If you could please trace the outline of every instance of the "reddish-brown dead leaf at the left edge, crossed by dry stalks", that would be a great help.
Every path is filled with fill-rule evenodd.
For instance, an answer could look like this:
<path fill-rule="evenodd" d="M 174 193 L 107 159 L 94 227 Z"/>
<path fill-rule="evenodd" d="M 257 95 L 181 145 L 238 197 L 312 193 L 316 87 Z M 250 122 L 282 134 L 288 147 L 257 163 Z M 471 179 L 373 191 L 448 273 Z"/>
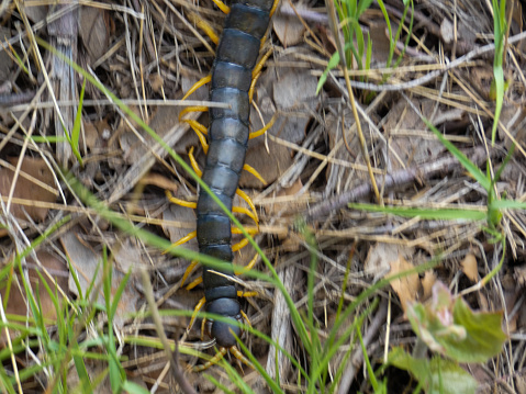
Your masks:
<path fill-rule="evenodd" d="M 19 218 L 26 218 L 26 214 L 34 221 L 43 222 L 48 209 L 37 206 L 38 202 L 55 202 L 58 191 L 54 188 L 53 172 L 42 159 L 25 157 L 16 178 L 13 198 L 27 200 L 27 205 L 11 204 L 11 213 Z M 19 158 L 3 161 L 0 169 L 0 195 L 8 196 L 13 183 L 14 170 Z M 32 204 L 34 202 L 34 204 Z"/>

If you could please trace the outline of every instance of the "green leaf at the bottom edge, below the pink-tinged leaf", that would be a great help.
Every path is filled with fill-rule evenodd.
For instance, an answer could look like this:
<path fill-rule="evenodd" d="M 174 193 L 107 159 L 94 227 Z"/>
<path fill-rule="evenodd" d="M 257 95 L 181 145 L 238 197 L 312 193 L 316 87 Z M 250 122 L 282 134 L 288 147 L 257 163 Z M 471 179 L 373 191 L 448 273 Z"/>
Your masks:
<path fill-rule="evenodd" d="M 402 348 L 394 348 L 388 362 L 410 372 L 428 394 L 471 394 L 477 390 L 477 381 L 450 360 L 416 359 Z"/>

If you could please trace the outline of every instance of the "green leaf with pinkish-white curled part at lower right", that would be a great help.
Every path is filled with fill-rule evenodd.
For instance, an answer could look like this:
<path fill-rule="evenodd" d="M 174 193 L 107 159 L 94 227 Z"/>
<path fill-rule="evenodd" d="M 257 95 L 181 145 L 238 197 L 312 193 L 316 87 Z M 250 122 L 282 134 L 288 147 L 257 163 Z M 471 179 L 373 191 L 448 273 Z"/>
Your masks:
<path fill-rule="evenodd" d="M 410 305 L 407 318 L 429 349 L 458 362 L 485 362 L 507 340 L 501 328 L 502 313 L 473 312 L 440 282 L 433 286 L 430 303 Z"/>

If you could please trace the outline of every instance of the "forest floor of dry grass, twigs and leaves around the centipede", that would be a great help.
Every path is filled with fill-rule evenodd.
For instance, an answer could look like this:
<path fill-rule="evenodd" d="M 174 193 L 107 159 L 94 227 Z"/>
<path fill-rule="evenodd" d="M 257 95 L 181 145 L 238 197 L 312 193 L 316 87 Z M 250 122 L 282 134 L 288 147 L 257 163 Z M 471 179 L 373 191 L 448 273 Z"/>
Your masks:
<path fill-rule="evenodd" d="M 378 380 L 389 393 L 526 393 L 524 2 L 501 2 L 502 91 L 491 1 L 406 3 L 360 1 L 335 23 L 321 1 L 282 0 L 271 20 L 250 130 L 276 122 L 246 158 L 265 184 L 239 182 L 258 225 L 236 215 L 260 248 L 235 254 L 240 266 L 257 255 L 238 280 L 257 293 L 240 300 L 257 331 L 242 340 L 283 392 L 380 393 Z M 194 203 L 187 168 L 205 158 L 192 126 L 206 110 L 181 111 L 217 105 L 208 87 L 180 100 L 210 74 L 205 32 L 221 36 L 225 14 L 211 0 L 3 1 L 0 16 L 2 392 L 178 392 L 159 330 L 199 392 L 279 392 L 232 354 L 234 369 L 190 371 L 195 351 L 215 353 L 201 319 L 187 330 L 204 294 L 181 281 L 197 240 L 169 248 L 195 212 L 166 191 Z M 458 328 L 460 300 L 480 312 L 471 328 Z M 422 303 L 436 315 L 415 317 Z M 461 357 L 437 322 L 468 333 Z M 479 347 L 483 362 L 466 356 Z M 435 360 L 452 389 L 432 382 Z"/>

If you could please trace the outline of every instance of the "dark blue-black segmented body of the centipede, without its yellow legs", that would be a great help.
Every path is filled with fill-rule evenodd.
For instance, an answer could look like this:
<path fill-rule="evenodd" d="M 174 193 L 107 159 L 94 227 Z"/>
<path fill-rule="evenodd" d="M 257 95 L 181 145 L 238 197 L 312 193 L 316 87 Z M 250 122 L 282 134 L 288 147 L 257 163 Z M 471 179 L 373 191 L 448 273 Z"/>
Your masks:
<path fill-rule="evenodd" d="M 212 69 L 210 99 L 230 103 L 232 109 L 210 109 L 210 147 L 202 179 L 231 211 L 247 150 L 251 72 L 273 2 L 231 1 L 231 12 L 225 20 Z M 236 286 L 228 280 L 233 261 L 231 221 L 203 190 L 199 193 L 197 213 L 200 252 L 228 262 L 224 270 L 215 269 L 226 277 L 204 268 L 206 312 L 240 320 Z M 231 270 L 227 270 L 228 267 Z M 239 336 L 239 327 L 222 322 L 211 323 L 209 335 L 216 339 L 219 346 L 228 348 L 236 345 L 230 329 Z"/>

